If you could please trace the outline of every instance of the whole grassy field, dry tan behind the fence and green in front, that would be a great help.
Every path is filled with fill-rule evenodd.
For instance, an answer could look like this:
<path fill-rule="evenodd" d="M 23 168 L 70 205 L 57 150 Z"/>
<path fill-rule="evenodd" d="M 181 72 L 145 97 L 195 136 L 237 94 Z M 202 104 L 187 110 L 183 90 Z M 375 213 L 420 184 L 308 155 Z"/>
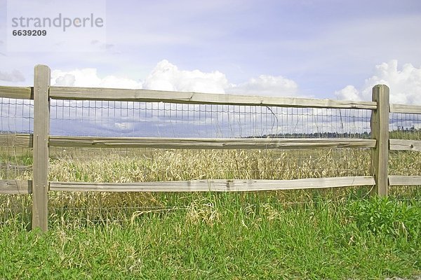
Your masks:
<path fill-rule="evenodd" d="M 3 148 L 0 179 L 30 179 Z M 391 153 L 391 174 L 421 173 Z M 370 151 L 52 149 L 51 181 L 299 179 L 370 175 Z M 385 279 L 421 274 L 421 191 L 370 186 L 260 193 L 51 193 L 50 230 L 27 232 L 30 197 L 1 195 L 0 279 Z"/>

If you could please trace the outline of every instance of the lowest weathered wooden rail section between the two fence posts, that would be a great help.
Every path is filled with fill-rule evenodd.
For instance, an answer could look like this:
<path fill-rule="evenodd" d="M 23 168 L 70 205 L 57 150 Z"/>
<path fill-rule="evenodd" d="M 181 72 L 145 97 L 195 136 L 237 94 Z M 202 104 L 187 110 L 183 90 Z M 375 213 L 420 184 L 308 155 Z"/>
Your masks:
<path fill-rule="evenodd" d="M 370 176 L 333 177 L 296 180 L 194 180 L 142 183 L 51 182 L 50 190 L 86 192 L 246 192 L 259 190 L 294 190 L 306 188 L 340 188 L 373 186 Z"/>

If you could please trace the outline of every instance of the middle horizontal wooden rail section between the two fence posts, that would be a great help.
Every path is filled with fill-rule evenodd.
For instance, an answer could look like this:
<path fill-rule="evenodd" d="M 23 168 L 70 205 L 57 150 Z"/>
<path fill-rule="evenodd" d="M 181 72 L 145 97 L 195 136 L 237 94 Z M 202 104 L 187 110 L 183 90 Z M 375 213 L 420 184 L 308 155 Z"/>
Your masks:
<path fill-rule="evenodd" d="M 153 137 L 62 137 L 51 136 L 50 146 L 98 148 L 373 148 L 375 139 L 281 139 L 281 138 L 153 138 Z"/>

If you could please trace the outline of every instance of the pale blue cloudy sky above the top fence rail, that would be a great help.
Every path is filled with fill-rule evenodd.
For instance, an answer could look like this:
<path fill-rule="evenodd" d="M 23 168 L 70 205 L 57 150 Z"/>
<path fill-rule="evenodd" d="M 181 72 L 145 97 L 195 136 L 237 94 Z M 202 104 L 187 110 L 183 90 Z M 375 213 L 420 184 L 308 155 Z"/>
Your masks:
<path fill-rule="evenodd" d="M 419 0 L 31 2 L 44 16 L 103 14 L 105 36 L 72 40 L 88 51 L 15 51 L 0 0 L 0 85 L 32 85 L 47 64 L 52 85 L 370 100 L 386 83 L 392 102 L 421 104 Z"/>

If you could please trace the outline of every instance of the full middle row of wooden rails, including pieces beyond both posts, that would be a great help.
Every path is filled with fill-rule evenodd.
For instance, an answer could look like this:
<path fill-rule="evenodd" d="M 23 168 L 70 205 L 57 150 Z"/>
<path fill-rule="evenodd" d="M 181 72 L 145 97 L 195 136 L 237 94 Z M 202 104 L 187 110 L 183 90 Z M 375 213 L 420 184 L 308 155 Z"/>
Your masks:
<path fill-rule="evenodd" d="M 0 134 L 1 146 L 33 148 L 32 134 Z M 48 137 L 51 147 L 80 148 L 169 148 L 169 149 L 304 149 L 374 148 L 375 139 L 317 138 L 157 138 L 157 137 Z M 420 151 L 421 141 L 391 139 L 391 150 Z"/>

